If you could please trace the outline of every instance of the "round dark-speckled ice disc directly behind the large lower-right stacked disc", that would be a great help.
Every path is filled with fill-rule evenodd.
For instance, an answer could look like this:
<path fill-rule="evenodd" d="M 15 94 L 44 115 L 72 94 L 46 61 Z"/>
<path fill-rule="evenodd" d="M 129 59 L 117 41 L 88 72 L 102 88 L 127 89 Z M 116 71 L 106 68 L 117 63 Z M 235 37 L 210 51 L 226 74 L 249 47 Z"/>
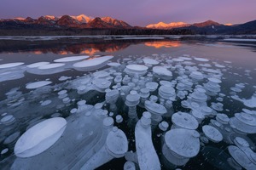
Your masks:
<path fill-rule="evenodd" d="M 174 128 L 182 127 L 194 130 L 198 127 L 198 122 L 194 116 L 181 111 L 178 111 L 172 115 L 172 123 Z"/>

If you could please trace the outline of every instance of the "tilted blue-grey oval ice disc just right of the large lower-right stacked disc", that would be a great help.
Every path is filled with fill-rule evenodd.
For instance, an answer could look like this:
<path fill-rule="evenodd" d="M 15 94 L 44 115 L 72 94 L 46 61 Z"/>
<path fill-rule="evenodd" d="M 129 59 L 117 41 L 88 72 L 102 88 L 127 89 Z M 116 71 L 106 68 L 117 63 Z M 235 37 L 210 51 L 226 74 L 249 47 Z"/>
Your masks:
<path fill-rule="evenodd" d="M 202 127 L 202 131 L 206 135 L 207 139 L 211 140 L 212 142 L 218 143 L 223 140 L 222 134 L 215 127 L 205 125 Z"/>

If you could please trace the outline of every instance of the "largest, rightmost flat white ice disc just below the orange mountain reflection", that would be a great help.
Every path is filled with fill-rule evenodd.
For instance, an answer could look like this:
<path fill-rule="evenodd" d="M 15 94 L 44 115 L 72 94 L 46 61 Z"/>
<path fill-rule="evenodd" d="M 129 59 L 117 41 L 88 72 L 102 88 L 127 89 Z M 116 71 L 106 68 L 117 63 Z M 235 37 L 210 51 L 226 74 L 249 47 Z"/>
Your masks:
<path fill-rule="evenodd" d="M 95 59 L 87 59 L 73 64 L 73 67 L 82 71 L 93 71 L 97 68 L 101 68 L 103 65 L 107 64 L 109 59 L 112 59 L 113 56 L 103 56 Z"/>

